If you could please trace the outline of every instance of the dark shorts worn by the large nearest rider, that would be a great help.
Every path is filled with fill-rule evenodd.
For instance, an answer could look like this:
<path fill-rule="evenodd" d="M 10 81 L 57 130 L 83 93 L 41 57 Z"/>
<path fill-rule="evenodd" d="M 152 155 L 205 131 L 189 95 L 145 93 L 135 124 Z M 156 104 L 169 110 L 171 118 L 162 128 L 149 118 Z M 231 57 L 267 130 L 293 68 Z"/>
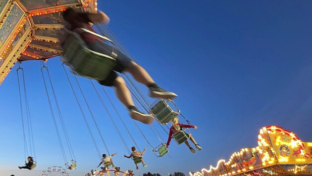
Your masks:
<path fill-rule="evenodd" d="M 115 79 L 118 77 L 118 74 L 116 72 L 122 73 L 125 68 L 131 65 L 131 59 L 129 57 L 108 44 L 105 44 L 103 42 L 97 42 L 93 44 L 88 44 L 88 46 L 93 51 L 100 52 L 109 56 L 112 55 L 111 52 L 117 54 L 117 57 L 115 58 L 117 61 L 115 68 L 113 68 L 113 70 L 109 73 L 105 80 L 99 81 L 99 83 L 103 86 L 112 86 Z"/>

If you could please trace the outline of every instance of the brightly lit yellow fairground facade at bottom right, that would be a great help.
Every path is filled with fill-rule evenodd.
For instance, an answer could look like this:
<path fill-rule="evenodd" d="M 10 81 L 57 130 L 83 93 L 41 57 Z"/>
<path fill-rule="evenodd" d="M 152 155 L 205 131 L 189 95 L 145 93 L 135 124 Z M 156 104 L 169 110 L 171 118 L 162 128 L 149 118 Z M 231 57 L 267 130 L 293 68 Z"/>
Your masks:
<path fill-rule="evenodd" d="M 256 148 L 234 153 L 228 162 L 191 176 L 312 176 L 312 142 L 281 127 L 263 127 Z"/>

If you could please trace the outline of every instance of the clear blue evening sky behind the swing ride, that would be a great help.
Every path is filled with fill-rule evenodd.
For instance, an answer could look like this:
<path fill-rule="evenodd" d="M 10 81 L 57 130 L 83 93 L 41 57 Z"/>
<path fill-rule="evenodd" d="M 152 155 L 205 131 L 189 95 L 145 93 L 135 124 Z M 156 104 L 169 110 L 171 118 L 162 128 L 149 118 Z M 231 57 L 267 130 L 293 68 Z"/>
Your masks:
<path fill-rule="evenodd" d="M 113 90 L 106 88 L 140 149 L 148 149 L 144 155 L 148 167 L 140 165 L 136 175 L 188 174 L 215 166 L 219 159 L 228 160 L 241 148 L 256 147 L 259 129 L 268 125 L 281 126 L 303 141 L 312 141 L 312 1 L 98 0 L 98 4 L 111 19 L 109 28 L 157 84 L 179 95 L 176 103 L 198 126 L 191 132 L 203 147 L 192 154 L 184 144 L 172 141 L 171 158 L 156 158 Z M 77 170 L 69 172 L 84 176 L 99 164 L 99 156 L 59 59 L 52 58 L 46 64 L 78 162 Z M 38 176 L 45 168 L 64 164 L 40 62 L 24 62 L 22 67 L 38 167 L 34 171 L 17 169 L 24 163 L 24 148 L 15 66 L 0 86 L 0 176 Z M 72 75 L 70 78 L 74 83 Z M 127 150 L 90 82 L 85 78 L 79 81 L 110 153 L 118 152 L 113 157 L 115 164 L 123 171 L 135 170 L 134 163 L 123 157 Z M 74 87 L 78 92 L 76 83 Z M 101 90 L 99 85 L 97 88 Z M 139 88 L 147 95 L 147 88 Z M 100 93 L 131 147 L 129 134 L 102 90 Z M 77 94 L 83 104 L 81 94 Z M 55 105 L 53 108 L 56 110 Z M 101 153 L 107 153 L 85 105 L 83 109 Z M 160 143 L 148 126 L 140 127 L 153 145 Z M 166 140 L 166 133 L 159 125 L 155 127 Z"/>

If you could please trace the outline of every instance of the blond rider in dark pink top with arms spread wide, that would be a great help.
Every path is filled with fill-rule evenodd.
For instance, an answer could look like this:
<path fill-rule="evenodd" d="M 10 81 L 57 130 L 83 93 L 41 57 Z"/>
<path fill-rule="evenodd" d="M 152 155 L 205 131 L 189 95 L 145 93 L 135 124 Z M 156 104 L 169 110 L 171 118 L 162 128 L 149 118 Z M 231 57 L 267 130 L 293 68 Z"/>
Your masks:
<path fill-rule="evenodd" d="M 174 133 L 182 131 L 182 128 L 194 128 L 195 130 L 197 129 L 197 127 L 195 125 L 187 125 L 187 124 L 180 124 L 179 123 L 179 119 L 177 117 L 175 117 L 174 119 L 172 119 L 171 121 L 172 123 L 172 127 L 170 128 L 170 132 L 169 132 L 169 136 L 168 136 L 168 140 L 167 140 L 167 148 L 169 147 L 170 141 L 172 136 L 174 135 Z M 186 133 L 187 138 L 191 139 L 191 141 L 195 144 L 195 147 L 198 150 L 202 150 L 202 147 L 199 146 L 198 143 L 196 143 L 194 137 L 192 137 L 190 134 Z M 189 142 L 187 141 L 187 139 L 184 142 L 191 150 L 192 153 L 195 153 L 196 151 L 190 146 Z"/>

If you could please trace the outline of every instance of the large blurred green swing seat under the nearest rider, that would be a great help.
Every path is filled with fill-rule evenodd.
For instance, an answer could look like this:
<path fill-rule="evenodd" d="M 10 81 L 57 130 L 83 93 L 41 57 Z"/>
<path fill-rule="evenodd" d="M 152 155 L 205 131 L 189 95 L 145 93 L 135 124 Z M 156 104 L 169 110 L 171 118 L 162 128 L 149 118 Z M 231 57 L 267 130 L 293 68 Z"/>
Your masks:
<path fill-rule="evenodd" d="M 90 50 L 80 35 L 69 32 L 63 44 L 63 62 L 79 76 L 105 80 L 116 65 L 111 56 Z"/>

